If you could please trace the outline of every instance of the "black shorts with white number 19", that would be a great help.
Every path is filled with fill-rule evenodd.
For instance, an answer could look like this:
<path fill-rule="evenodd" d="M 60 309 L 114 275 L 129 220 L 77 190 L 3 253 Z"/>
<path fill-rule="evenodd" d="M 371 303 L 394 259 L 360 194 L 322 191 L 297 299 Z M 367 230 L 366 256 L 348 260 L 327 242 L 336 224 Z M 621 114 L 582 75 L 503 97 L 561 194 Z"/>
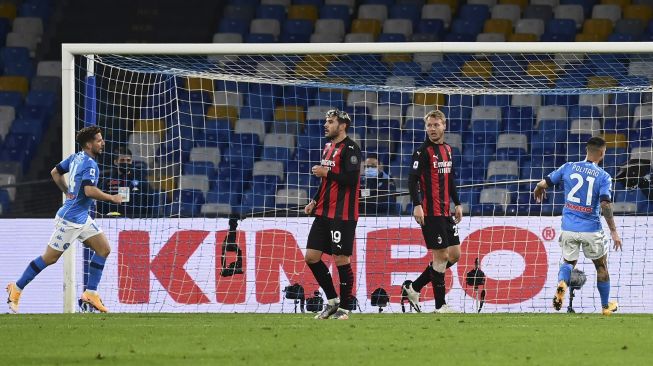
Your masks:
<path fill-rule="evenodd" d="M 317 216 L 308 233 L 306 248 L 332 255 L 351 256 L 355 236 L 356 221 L 333 220 Z"/>

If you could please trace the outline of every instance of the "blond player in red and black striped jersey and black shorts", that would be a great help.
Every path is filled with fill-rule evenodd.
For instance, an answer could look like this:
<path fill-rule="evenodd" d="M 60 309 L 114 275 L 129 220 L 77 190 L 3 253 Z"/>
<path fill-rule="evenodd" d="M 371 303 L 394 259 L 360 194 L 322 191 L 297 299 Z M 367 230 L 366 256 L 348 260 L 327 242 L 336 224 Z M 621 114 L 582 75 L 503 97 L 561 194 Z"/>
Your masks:
<path fill-rule="evenodd" d="M 454 181 L 451 146 L 444 142 L 446 116 L 439 110 L 424 117 L 427 138 L 413 153 L 413 165 L 408 178 L 408 190 L 413 202 L 413 217 L 422 227 L 426 247 L 433 262 L 412 283 L 404 286 L 406 297 L 417 311 L 419 292 L 430 281 L 435 295 L 437 313 L 453 313 L 444 299 L 444 274 L 460 258 L 460 239 L 456 224 L 463 218 L 462 206 Z M 421 196 L 421 197 L 420 197 Z M 451 203 L 455 217 L 451 217 Z"/>

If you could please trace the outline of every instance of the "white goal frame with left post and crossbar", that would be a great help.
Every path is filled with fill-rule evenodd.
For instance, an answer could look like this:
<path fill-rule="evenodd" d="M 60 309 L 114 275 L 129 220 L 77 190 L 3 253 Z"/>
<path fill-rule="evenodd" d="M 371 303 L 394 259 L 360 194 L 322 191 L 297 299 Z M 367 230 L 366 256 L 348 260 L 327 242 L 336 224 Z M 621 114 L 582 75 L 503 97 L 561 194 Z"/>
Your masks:
<path fill-rule="evenodd" d="M 407 42 L 407 43 L 189 43 L 100 44 L 64 43 L 61 46 L 62 158 L 75 146 L 75 56 L 116 55 L 225 55 L 225 54 L 354 54 L 354 53 L 650 53 L 653 42 Z M 63 198 L 65 200 L 65 196 Z M 75 312 L 76 246 L 64 253 L 64 313 Z"/>

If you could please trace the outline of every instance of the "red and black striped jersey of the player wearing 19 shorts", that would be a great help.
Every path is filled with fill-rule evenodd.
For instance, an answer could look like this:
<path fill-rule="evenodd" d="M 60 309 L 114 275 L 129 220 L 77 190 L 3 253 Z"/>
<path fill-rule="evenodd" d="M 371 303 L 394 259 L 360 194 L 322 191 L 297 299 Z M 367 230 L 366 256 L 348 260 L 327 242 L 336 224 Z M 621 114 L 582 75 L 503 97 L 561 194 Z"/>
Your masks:
<path fill-rule="evenodd" d="M 315 216 L 339 220 L 358 220 L 361 150 L 346 137 L 338 143 L 327 142 L 321 165 L 329 168 L 315 197 Z"/>

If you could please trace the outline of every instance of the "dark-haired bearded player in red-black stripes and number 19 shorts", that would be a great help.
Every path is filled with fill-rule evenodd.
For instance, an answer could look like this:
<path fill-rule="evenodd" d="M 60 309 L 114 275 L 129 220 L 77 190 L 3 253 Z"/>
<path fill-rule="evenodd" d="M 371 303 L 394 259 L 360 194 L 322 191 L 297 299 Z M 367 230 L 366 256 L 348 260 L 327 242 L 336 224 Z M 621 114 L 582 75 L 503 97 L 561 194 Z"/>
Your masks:
<path fill-rule="evenodd" d="M 351 119 L 345 112 L 335 109 L 326 113 L 324 135 L 330 141 L 322 151 L 321 164 L 312 168 L 322 182 L 313 200 L 304 208 L 307 215 L 315 215 L 308 234 L 305 260 L 328 300 L 316 319 L 331 316 L 349 319 L 354 282 L 350 259 L 358 221 L 361 164 L 360 147 L 347 137 L 350 124 Z M 322 261 L 322 253 L 334 256 L 340 277 L 339 299 L 329 269 Z"/>

